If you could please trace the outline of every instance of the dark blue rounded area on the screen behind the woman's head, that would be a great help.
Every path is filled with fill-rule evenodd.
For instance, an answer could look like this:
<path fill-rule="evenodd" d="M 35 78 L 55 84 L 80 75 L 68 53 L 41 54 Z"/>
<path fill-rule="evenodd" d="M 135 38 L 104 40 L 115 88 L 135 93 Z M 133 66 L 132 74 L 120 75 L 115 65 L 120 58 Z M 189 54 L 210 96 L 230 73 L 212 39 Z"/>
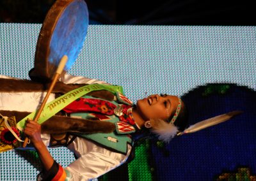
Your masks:
<path fill-rule="evenodd" d="M 182 96 L 189 122 L 242 110 L 227 122 L 177 136 L 164 148 L 152 144 L 156 180 L 216 180 L 240 167 L 256 173 L 256 92 L 235 84 L 208 84 Z"/>

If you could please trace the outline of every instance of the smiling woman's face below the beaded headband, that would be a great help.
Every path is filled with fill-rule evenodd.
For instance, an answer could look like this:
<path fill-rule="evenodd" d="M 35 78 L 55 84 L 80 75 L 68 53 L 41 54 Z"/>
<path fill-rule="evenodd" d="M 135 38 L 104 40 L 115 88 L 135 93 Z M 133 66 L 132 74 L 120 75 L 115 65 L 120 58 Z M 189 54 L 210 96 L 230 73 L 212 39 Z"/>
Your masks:
<path fill-rule="evenodd" d="M 137 111 L 144 120 L 167 120 L 179 105 L 179 98 L 170 95 L 154 94 L 137 101 Z"/>

